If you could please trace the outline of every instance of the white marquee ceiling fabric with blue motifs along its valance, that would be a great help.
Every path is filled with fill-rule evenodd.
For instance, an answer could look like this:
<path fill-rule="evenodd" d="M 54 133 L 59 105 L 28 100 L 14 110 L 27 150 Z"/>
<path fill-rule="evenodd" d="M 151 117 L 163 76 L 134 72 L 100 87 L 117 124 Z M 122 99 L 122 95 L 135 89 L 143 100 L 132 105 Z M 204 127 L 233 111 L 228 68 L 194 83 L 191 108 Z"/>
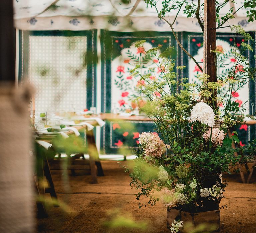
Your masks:
<path fill-rule="evenodd" d="M 158 2 L 159 9 L 161 2 Z M 219 1 L 219 4 L 222 3 L 223 1 Z M 241 0 L 235 4 L 227 4 L 221 9 L 220 15 L 225 15 L 230 7 L 237 10 L 243 4 L 244 1 Z M 172 20 L 175 15 L 176 12 L 173 11 L 166 17 Z M 14 0 L 14 19 L 16 27 L 22 30 L 170 30 L 166 22 L 157 18 L 155 9 L 147 8 L 147 4 L 140 0 L 131 0 L 129 4 L 124 4 L 121 0 Z M 247 22 L 245 8 L 241 8 L 229 24 L 241 25 L 246 31 L 256 30 L 255 22 Z M 174 29 L 177 32 L 200 32 L 197 20 L 186 18 L 183 13 L 179 14 Z M 218 30 L 227 31 L 229 28 Z"/>

